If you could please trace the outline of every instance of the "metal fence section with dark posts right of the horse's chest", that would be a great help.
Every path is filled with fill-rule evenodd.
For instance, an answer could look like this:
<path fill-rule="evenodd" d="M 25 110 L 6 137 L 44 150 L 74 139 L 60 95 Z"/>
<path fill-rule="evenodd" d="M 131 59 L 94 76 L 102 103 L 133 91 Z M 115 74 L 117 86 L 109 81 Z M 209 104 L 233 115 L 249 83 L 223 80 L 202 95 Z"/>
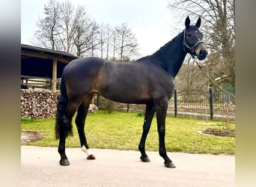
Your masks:
<path fill-rule="evenodd" d="M 235 99 L 227 93 L 209 91 L 174 90 L 174 96 L 168 104 L 168 114 L 180 117 L 196 117 L 203 119 L 234 120 Z"/>

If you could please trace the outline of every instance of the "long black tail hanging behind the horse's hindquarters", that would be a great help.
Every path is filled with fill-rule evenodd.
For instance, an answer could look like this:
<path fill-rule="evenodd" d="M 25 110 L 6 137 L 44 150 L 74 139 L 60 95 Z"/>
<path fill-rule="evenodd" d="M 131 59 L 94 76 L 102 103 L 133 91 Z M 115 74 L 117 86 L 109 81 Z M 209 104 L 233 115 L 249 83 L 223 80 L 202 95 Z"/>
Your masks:
<path fill-rule="evenodd" d="M 60 138 L 61 134 L 64 134 L 65 137 L 68 135 L 73 135 L 72 124 L 70 120 L 67 120 L 66 117 L 66 108 L 67 108 L 67 89 L 65 83 L 64 73 L 61 77 L 61 96 L 58 98 L 57 105 L 57 114 L 55 122 L 55 138 Z"/>

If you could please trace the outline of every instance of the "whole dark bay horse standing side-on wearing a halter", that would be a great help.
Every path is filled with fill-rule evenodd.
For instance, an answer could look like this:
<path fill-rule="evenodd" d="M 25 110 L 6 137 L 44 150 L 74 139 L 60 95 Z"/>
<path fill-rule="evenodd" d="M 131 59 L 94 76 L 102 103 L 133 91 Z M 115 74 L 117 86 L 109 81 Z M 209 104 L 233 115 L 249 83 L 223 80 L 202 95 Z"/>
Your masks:
<path fill-rule="evenodd" d="M 61 79 L 61 96 L 55 123 L 55 136 L 59 138 L 58 153 L 60 165 L 70 165 L 65 153 L 65 141 L 72 135 L 71 120 L 77 111 L 76 127 L 82 150 L 88 159 L 95 159 L 85 138 L 85 118 L 94 93 L 115 102 L 145 104 L 143 132 L 138 150 L 141 161 L 150 162 L 145 153 L 145 141 L 153 115 L 156 112 L 159 133 L 159 155 L 167 168 L 175 168 L 165 150 L 165 116 L 168 100 L 174 91 L 174 77 L 180 70 L 187 53 L 199 60 L 207 57 L 207 49 L 202 42 L 203 34 L 195 25 L 189 25 L 153 55 L 140 58 L 134 63 L 117 63 L 100 58 L 79 58 L 64 68 Z"/>

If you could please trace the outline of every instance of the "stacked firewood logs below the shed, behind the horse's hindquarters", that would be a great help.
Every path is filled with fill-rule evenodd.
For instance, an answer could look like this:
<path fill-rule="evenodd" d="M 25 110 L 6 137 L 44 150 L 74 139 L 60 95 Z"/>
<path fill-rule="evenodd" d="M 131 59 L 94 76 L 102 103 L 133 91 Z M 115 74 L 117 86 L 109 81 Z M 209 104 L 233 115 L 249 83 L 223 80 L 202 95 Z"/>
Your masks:
<path fill-rule="evenodd" d="M 55 117 L 60 94 L 60 91 L 21 89 L 21 116 L 35 119 Z M 90 105 L 89 112 L 97 109 L 96 105 Z"/>

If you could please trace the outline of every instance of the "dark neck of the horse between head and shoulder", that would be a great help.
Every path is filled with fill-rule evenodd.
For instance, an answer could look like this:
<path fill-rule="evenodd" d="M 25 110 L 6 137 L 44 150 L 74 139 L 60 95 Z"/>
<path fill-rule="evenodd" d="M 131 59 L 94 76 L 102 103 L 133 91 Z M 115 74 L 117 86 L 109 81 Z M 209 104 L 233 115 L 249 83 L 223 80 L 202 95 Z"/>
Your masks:
<path fill-rule="evenodd" d="M 183 51 L 183 32 L 151 56 L 170 76 L 175 77 L 186 56 L 186 52 Z"/>

